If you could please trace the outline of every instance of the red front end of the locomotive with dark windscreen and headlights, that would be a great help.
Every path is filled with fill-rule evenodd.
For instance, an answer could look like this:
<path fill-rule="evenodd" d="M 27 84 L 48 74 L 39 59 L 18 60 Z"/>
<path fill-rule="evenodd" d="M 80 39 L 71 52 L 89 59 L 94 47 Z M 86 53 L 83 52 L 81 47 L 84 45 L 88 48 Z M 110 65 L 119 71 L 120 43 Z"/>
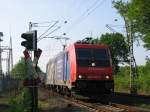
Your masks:
<path fill-rule="evenodd" d="M 69 49 L 72 88 L 80 93 L 111 93 L 112 63 L 107 45 L 74 44 Z"/>

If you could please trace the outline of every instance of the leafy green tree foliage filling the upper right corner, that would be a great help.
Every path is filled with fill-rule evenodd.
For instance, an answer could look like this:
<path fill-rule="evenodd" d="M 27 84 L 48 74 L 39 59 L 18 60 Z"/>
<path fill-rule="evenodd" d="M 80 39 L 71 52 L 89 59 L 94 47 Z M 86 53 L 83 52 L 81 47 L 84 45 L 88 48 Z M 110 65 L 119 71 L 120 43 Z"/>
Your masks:
<path fill-rule="evenodd" d="M 125 21 L 127 38 L 129 28 L 132 29 L 134 40 L 140 38 L 144 41 L 144 47 L 150 49 L 150 1 L 131 0 L 113 2 L 114 7 Z"/>

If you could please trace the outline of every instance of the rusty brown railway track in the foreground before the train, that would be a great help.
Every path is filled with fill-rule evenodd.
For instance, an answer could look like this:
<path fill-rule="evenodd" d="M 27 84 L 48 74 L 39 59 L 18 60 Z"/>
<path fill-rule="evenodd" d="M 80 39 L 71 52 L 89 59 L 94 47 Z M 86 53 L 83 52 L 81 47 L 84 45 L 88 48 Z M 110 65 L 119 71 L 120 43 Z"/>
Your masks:
<path fill-rule="evenodd" d="M 109 105 L 106 105 L 97 101 L 93 102 L 93 100 L 91 102 L 90 100 L 82 100 L 76 99 L 74 97 L 67 97 L 54 92 L 52 94 L 57 95 L 59 97 L 63 97 L 63 100 L 70 105 L 76 105 L 78 107 L 85 108 L 90 112 L 150 112 L 150 110 L 148 109 L 143 109 L 135 106 L 127 106 L 118 103 L 111 103 Z"/>

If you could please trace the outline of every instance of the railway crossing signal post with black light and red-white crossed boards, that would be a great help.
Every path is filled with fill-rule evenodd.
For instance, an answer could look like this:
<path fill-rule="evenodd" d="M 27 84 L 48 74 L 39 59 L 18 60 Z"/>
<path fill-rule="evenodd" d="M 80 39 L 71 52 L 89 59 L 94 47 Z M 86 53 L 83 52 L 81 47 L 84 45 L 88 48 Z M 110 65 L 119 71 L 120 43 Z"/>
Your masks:
<path fill-rule="evenodd" d="M 27 78 L 24 80 L 24 86 L 28 87 L 31 93 L 31 112 L 38 112 L 38 83 L 40 79 L 37 75 L 37 63 L 42 50 L 37 50 L 37 31 L 29 31 L 21 35 L 26 41 L 21 43 L 26 49 L 24 51 L 25 61 L 27 65 Z M 34 51 L 34 59 L 32 61 L 29 51 Z"/>

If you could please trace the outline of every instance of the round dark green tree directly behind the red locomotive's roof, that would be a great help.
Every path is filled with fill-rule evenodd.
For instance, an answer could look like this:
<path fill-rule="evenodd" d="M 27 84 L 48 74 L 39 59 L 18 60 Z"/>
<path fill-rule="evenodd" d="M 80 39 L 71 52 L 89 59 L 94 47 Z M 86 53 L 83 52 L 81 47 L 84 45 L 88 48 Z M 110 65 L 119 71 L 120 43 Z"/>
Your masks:
<path fill-rule="evenodd" d="M 97 42 L 100 44 L 104 43 L 109 46 L 115 72 L 118 72 L 118 64 L 120 62 L 128 61 L 129 50 L 125 37 L 120 33 L 106 33 L 101 35 Z"/>

